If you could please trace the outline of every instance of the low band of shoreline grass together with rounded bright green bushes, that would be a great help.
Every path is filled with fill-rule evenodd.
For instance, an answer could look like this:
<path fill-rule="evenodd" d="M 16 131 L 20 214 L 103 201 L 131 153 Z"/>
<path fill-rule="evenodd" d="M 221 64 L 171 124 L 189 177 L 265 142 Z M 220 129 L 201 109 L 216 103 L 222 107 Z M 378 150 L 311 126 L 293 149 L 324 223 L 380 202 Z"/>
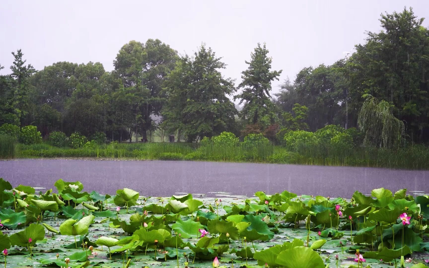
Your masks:
<path fill-rule="evenodd" d="M 334 125 L 317 132 L 286 132 L 279 145 L 263 134 L 248 134 L 240 141 L 231 132 L 204 137 L 198 143 L 119 143 L 107 142 L 103 132 L 88 139 L 77 132 L 67 137 L 55 131 L 42 142 L 33 126 L 13 131 L 14 136 L 0 133 L 0 159 L 85 157 L 429 169 L 429 148 L 425 145 L 364 146 L 363 135 L 355 128 L 345 130 Z"/>

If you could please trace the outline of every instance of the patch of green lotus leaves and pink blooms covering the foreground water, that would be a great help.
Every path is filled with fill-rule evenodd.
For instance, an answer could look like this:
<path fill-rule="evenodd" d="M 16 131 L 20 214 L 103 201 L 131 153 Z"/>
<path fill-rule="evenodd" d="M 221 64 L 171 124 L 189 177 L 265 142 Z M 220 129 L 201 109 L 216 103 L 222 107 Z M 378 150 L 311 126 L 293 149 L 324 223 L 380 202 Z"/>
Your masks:
<path fill-rule="evenodd" d="M 429 259 L 429 196 L 406 189 L 350 199 L 109 196 L 61 179 L 54 189 L 0 179 L 5 267 L 420 268 Z"/>

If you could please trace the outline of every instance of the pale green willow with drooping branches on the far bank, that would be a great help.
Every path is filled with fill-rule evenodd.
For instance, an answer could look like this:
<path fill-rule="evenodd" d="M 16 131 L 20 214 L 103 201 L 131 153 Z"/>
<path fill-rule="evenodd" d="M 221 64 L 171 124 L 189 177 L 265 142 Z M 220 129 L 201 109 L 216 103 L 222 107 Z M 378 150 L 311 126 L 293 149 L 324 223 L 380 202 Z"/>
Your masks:
<path fill-rule="evenodd" d="M 378 147 L 398 147 L 404 141 L 404 122 L 396 118 L 389 102 L 378 101 L 370 94 L 362 96 L 365 101 L 359 111 L 358 125 L 365 133 L 364 143 Z"/>

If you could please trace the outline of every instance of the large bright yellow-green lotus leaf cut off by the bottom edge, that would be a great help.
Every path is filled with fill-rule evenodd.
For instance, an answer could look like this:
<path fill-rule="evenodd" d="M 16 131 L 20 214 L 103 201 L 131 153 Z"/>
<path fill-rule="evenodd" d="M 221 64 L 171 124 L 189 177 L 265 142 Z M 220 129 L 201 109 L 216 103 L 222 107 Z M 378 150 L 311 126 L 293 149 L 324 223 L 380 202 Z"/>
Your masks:
<path fill-rule="evenodd" d="M 280 252 L 275 261 L 286 268 L 325 268 L 322 258 L 308 247 L 294 247 Z"/>

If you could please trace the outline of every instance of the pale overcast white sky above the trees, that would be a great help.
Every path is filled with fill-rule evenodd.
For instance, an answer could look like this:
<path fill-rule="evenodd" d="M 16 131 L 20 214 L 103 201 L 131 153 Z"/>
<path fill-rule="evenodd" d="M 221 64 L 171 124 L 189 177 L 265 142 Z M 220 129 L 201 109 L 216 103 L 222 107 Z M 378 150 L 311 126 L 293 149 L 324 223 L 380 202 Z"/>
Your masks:
<path fill-rule="evenodd" d="M 223 74 L 240 81 L 257 42 L 266 42 L 278 85 L 305 66 L 331 64 L 379 31 L 382 12 L 413 7 L 429 17 L 428 0 L 361 1 L 19 1 L 0 4 L 0 64 L 10 73 L 11 51 L 43 69 L 58 61 L 101 62 L 107 71 L 122 45 L 158 38 L 179 53 L 205 42 L 228 64 Z M 429 19 L 423 26 L 429 26 Z"/>

